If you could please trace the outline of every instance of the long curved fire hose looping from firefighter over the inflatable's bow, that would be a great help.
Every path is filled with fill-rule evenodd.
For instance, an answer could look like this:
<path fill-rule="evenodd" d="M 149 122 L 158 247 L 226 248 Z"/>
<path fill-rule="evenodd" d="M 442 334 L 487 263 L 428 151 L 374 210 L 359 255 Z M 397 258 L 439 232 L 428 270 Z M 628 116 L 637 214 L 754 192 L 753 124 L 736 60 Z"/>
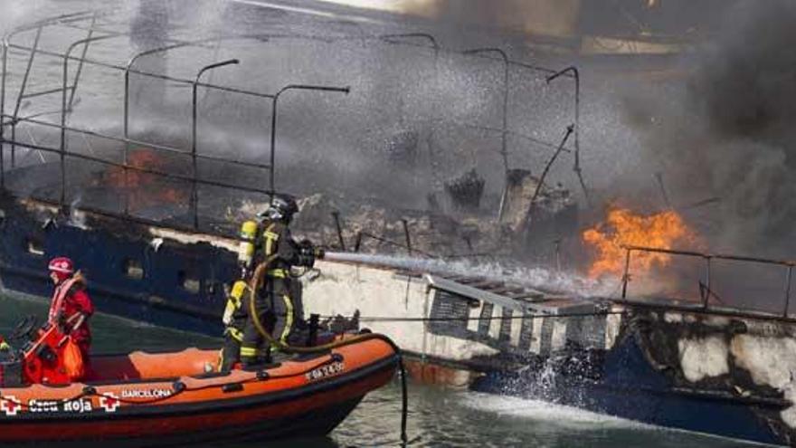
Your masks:
<path fill-rule="evenodd" d="M 270 263 L 275 259 L 276 255 L 272 255 L 264 262 L 258 264 L 257 268 L 254 270 L 254 273 L 251 275 L 251 281 L 249 281 L 249 315 L 251 316 L 251 321 L 254 323 L 254 327 L 257 329 L 258 333 L 260 333 L 261 337 L 265 339 L 266 343 L 270 344 L 270 346 L 277 347 L 285 353 L 318 353 L 333 348 L 345 347 L 356 342 L 362 342 L 370 339 L 380 339 L 389 344 L 390 347 L 392 347 L 395 351 L 395 356 L 398 357 L 398 369 L 401 373 L 401 441 L 405 445 L 408 441 L 408 437 L 406 435 L 406 419 L 408 415 L 409 401 L 406 392 L 406 370 L 403 367 L 401 348 L 395 345 L 392 339 L 376 333 L 365 333 L 355 335 L 350 338 L 341 338 L 336 341 L 314 347 L 295 347 L 283 342 L 279 338 L 274 338 L 270 332 L 265 329 L 265 326 L 262 325 L 260 314 L 257 310 L 257 300 L 255 300 L 255 294 L 265 284 L 265 273 L 268 271 Z"/>

